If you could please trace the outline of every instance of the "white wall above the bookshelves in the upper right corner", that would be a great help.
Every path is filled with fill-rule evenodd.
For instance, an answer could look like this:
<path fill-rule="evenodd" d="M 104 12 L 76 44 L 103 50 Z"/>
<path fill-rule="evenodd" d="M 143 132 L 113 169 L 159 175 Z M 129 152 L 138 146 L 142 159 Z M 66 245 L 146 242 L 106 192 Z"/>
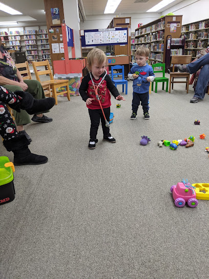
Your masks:
<path fill-rule="evenodd" d="M 209 1 L 208 0 L 184 0 L 181 3 L 165 10 L 161 15 L 173 12 L 182 16 L 182 25 L 201 21 L 209 18 Z"/>

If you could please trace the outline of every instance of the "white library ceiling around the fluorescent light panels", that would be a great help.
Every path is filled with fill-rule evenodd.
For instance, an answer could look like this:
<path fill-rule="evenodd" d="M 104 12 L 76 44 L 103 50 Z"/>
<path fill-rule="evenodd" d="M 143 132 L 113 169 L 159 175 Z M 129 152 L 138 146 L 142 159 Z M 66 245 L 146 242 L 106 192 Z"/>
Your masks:
<path fill-rule="evenodd" d="M 6 12 L 0 11 L 0 22 L 17 21 L 19 26 L 34 25 L 35 23 L 39 25 L 40 23 L 46 24 L 44 0 L 0 0 L 0 2 L 23 13 L 23 15 L 10 15 Z M 144 13 L 159 2 L 161 2 L 161 0 L 122 0 L 115 11 L 115 14 Z M 182 0 L 176 0 L 159 12 L 180 2 L 182 2 Z M 82 4 L 86 15 L 98 15 L 103 14 L 105 11 L 107 0 L 78 0 L 78 3 Z"/>

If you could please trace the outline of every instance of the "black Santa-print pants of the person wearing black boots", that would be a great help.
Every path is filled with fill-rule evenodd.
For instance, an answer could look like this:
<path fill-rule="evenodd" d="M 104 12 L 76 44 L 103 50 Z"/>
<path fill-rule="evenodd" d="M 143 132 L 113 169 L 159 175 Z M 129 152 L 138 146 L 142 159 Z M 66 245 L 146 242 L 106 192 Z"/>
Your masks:
<path fill-rule="evenodd" d="M 7 141 L 17 136 L 16 126 L 6 104 L 19 103 L 21 97 L 0 86 L 0 135 Z"/>

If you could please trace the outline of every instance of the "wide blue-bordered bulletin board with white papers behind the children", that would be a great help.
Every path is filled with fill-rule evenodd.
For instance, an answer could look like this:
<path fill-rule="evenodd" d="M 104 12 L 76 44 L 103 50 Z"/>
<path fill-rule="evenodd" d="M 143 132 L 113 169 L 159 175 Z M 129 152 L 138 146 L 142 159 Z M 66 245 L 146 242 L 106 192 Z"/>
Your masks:
<path fill-rule="evenodd" d="M 128 28 L 80 30 L 81 46 L 127 45 Z"/>

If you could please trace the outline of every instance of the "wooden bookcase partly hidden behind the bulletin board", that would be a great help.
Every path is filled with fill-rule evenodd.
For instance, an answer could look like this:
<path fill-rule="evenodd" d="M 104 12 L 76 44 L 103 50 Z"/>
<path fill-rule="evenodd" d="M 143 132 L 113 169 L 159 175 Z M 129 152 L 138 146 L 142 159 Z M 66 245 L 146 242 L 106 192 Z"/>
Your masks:
<path fill-rule="evenodd" d="M 128 28 L 128 44 L 110 46 L 107 51 L 114 52 L 115 55 L 129 55 L 129 61 L 131 61 L 131 35 L 129 36 L 131 33 L 129 32 L 129 29 L 131 29 L 131 17 L 114 17 L 107 28 L 116 27 Z"/>

